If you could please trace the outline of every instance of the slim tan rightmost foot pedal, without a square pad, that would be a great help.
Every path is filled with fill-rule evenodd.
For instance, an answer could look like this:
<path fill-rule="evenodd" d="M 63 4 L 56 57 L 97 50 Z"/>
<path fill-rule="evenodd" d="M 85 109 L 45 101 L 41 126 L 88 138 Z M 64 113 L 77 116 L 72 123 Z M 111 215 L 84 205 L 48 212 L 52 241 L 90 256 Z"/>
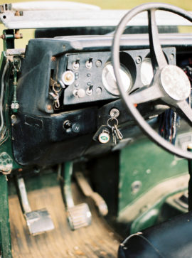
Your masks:
<path fill-rule="evenodd" d="M 105 200 L 102 198 L 99 193 L 96 193 L 92 190 L 90 184 L 88 183 L 87 179 L 81 172 L 75 173 L 75 178 L 78 181 L 78 184 L 82 190 L 82 193 L 84 193 L 85 196 L 92 198 L 94 200 L 95 205 L 97 206 L 100 215 L 105 216 L 108 213 L 107 204 L 105 203 Z"/>

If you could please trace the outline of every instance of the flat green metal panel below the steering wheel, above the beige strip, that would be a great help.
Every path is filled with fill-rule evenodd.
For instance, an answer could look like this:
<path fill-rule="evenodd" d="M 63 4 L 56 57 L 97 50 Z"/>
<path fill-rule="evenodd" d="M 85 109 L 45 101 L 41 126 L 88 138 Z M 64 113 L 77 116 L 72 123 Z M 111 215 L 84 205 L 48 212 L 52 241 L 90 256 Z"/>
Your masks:
<path fill-rule="evenodd" d="M 188 171 L 186 160 L 167 153 L 149 139 L 139 139 L 122 149 L 119 170 L 119 213 L 158 183 Z M 137 193 L 132 190 L 135 181 L 142 183 Z"/>

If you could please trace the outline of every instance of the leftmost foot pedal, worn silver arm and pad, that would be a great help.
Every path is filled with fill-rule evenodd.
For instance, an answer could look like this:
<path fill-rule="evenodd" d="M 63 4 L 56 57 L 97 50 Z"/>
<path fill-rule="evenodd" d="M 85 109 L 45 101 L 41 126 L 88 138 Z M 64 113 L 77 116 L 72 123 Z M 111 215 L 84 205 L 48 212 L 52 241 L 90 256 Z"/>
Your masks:
<path fill-rule="evenodd" d="M 46 208 L 41 210 L 31 210 L 28 203 L 26 186 L 23 178 L 18 178 L 18 190 L 21 201 L 21 208 L 26 219 L 28 230 L 31 235 L 39 235 L 47 231 L 53 230 L 54 225 Z"/>

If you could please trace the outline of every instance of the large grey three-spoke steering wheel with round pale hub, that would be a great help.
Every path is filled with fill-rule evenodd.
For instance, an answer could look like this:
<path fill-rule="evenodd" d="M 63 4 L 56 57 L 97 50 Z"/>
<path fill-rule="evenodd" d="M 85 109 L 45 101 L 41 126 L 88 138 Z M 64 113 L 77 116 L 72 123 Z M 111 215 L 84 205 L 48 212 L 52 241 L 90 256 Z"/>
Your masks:
<path fill-rule="evenodd" d="M 112 64 L 114 74 L 117 79 L 119 92 L 127 105 L 127 109 L 132 114 L 137 124 L 142 130 L 159 146 L 166 149 L 166 151 L 180 156 L 182 158 L 192 159 L 192 153 L 178 149 L 173 144 L 163 139 L 159 134 L 152 129 L 149 124 L 144 120 L 142 115 L 138 112 L 134 104 L 160 100 L 169 107 L 176 109 L 177 112 L 182 114 L 182 117 L 192 126 L 192 110 L 191 105 L 186 102 L 186 99 L 191 94 L 191 84 L 188 77 L 181 68 L 176 65 L 168 65 L 166 58 L 161 49 L 158 30 L 156 26 L 155 12 L 156 10 L 169 11 L 178 14 L 188 21 L 192 22 L 192 15 L 188 11 L 184 11 L 171 4 L 149 3 L 142 4 L 129 11 L 122 20 L 119 22 L 114 33 L 112 43 Z M 127 23 L 137 14 L 147 11 L 148 12 L 148 30 L 149 30 L 149 48 L 151 55 L 151 63 L 154 69 L 154 77 L 149 87 L 144 87 L 139 92 L 134 92 L 128 95 L 124 92 L 121 76 L 119 74 L 120 61 L 119 61 L 119 45 L 120 38 Z"/>

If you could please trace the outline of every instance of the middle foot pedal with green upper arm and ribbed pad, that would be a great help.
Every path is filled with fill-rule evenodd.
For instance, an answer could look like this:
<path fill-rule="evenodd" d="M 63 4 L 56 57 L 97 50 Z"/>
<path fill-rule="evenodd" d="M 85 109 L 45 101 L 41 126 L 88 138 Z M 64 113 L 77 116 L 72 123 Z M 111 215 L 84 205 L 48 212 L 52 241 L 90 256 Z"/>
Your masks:
<path fill-rule="evenodd" d="M 58 167 L 58 176 L 62 182 L 63 200 L 71 230 L 78 230 L 80 227 L 87 227 L 91 224 L 92 215 L 87 203 L 75 205 L 71 190 L 71 176 L 73 173 L 73 163 L 66 162 Z"/>

